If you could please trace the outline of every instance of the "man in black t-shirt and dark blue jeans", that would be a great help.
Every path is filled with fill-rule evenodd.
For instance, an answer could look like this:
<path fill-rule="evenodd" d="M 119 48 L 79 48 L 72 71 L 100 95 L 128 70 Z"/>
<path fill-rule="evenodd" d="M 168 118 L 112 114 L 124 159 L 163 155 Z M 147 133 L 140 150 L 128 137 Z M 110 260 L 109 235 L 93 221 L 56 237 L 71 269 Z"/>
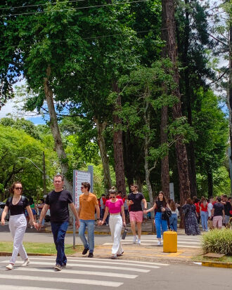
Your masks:
<path fill-rule="evenodd" d="M 37 223 L 37 230 L 40 230 L 41 222 L 50 208 L 51 231 L 57 251 L 55 270 L 60 271 L 63 267 L 66 267 L 67 263 L 67 258 L 65 256 L 65 234 L 69 224 L 68 205 L 77 220 L 76 228 L 79 228 L 79 217 L 75 205 L 72 202 L 72 195 L 70 192 L 63 189 L 63 176 L 57 174 L 53 178 L 53 185 L 55 189 L 49 192 L 49 195 L 46 197 L 44 207 L 39 216 L 39 222 Z"/>

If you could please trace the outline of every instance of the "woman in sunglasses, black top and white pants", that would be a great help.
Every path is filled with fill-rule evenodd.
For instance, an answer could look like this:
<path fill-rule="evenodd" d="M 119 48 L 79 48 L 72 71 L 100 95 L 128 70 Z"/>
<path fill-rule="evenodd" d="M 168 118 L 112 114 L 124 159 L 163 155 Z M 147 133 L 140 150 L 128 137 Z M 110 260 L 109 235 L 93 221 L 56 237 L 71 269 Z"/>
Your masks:
<path fill-rule="evenodd" d="M 27 266 L 29 264 L 29 259 L 27 253 L 22 245 L 22 239 L 27 228 L 27 220 L 25 218 L 25 208 L 30 216 L 30 224 L 35 225 L 32 210 L 30 208 L 28 199 L 22 197 L 22 183 L 19 181 L 13 183 L 11 186 L 11 193 L 13 197 L 9 197 L 6 201 L 6 206 L 4 207 L 4 212 L 1 215 L 1 225 L 5 225 L 5 218 L 8 211 L 11 212 L 9 220 L 9 228 L 11 235 L 13 236 L 13 253 L 11 256 L 10 263 L 6 266 L 7 270 L 12 270 L 15 264 L 18 253 L 24 261 L 22 266 Z"/>

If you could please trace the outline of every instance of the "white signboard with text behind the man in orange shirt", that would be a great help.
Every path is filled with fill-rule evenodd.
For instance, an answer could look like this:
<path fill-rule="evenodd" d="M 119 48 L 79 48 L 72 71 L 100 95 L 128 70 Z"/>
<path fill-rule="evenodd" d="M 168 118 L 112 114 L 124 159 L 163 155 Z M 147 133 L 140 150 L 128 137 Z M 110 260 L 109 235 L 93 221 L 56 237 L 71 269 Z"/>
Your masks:
<path fill-rule="evenodd" d="M 82 195 L 82 183 L 91 184 L 91 173 L 88 171 L 75 170 L 73 174 L 73 189 L 74 189 L 74 202 L 75 207 L 79 208 L 79 196 Z"/>

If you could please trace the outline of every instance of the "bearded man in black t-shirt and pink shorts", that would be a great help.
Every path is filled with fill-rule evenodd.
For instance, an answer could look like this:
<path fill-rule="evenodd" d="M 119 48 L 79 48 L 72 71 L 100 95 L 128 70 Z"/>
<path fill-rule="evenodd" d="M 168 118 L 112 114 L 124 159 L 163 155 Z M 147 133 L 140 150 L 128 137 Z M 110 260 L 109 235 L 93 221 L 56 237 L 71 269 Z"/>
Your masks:
<path fill-rule="evenodd" d="M 131 193 L 128 195 L 127 205 L 129 206 L 129 219 L 131 223 L 131 231 L 134 235 L 133 243 L 141 244 L 141 232 L 143 222 L 143 210 L 141 202 L 143 202 L 144 210 L 147 209 L 147 202 L 141 192 L 138 192 L 138 185 L 131 185 Z M 138 229 L 138 237 L 136 236 L 136 225 Z"/>

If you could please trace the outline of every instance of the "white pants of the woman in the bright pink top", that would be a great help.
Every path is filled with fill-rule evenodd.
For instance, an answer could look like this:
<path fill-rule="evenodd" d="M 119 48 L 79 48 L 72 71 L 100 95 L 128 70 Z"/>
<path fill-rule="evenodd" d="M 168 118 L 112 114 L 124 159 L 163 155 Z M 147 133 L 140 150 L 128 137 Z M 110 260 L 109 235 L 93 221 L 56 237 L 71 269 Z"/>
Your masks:
<path fill-rule="evenodd" d="M 121 244 L 122 216 L 120 213 L 117 215 L 110 215 L 109 225 L 112 237 L 112 255 L 115 256 L 123 252 Z"/>

